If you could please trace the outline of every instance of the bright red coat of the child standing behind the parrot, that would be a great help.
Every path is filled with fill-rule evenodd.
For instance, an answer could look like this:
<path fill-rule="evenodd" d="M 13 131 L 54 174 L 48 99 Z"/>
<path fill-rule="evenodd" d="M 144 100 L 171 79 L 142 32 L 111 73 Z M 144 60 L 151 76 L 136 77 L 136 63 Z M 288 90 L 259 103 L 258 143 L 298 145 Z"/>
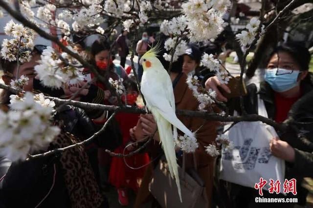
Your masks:
<path fill-rule="evenodd" d="M 116 121 L 120 125 L 123 136 L 123 144 L 117 147 L 115 153 L 123 153 L 125 146 L 130 142 L 129 130 L 133 128 L 139 119 L 139 114 L 134 113 L 118 113 L 115 116 Z M 129 151 L 125 150 L 125 154 Z M 128 166 L 140 167 L 149 163 L 149 156 L 147 153 L 135 154 L 131 157 L 125 158 Z M 109 181 L 116 188 L 130 187 L 136 191 L 139 187 L 138 179 L 142 179 L 146 166 L 134 170 L 126 166 L 124 159 L 121 157 L 113 157 L 110 168 Z"/>

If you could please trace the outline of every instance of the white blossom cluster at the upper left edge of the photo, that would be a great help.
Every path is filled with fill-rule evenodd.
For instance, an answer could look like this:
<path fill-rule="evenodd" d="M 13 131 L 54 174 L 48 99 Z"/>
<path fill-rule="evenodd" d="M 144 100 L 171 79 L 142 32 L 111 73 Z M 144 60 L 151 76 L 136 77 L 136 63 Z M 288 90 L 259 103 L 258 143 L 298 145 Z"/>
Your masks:
<path fill-rule="evenodd" d="M 29 62 L 31 51 L 34 48 L 34 32 L 22 24 L 17 24 L 11 20 L 5 25 L 4 33 L 14 38 L 3 40 L 1 57 L 9 62 L 17 61 L 18 58 L 21 63 Z"/>

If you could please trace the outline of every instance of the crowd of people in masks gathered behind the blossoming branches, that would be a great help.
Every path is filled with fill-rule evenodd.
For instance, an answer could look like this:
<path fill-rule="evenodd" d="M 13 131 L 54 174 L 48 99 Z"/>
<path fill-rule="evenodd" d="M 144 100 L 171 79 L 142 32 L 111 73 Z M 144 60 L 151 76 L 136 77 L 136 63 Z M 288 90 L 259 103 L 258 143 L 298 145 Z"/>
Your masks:
<path fill-rule="evenodd" d="M 164 40 L 164 37 L 160 40 L 161 47 Z M 136 72 L 139 82 L 143 74 L 139 60 L 155 41 L 155 35 L 149 37 L 148 33 L 144 32 L 141 40 L 136 44 L 135 52 L 138 55 Z M 106 105 L 119 105 L 121 102 L 134 107 L 144 107 L 136 103 L 140 92 L 134 77 L 124 69 L 126 58 L 130 53 L 127 31 L 122 31 L 113 46 L 111 42 L 102 38 L 96 40 L 88 50 L 84 45 L 75 45 L 82 57 L 96 67 L 100 75 L 113 80 L 123 78 L 126 93 L 120 98 L 110 91 L 109 83 L 94 79 L 94 73 L 88 68 L 83 71 L 84 82 L 67 85 L 61 89 L 42 85 L 36 77 L 34 66 L 40 60 L 45 47 L 35 45 L 31 61 L 20 66 L 20 74 L 29 78 L 28 84 L 23 87 L 25 91 L 44 93 L 58 98 L 69 98 L 78 92 L 75 97 L 77 101 Z M 111 47 L 117 51 L 120 64 L 113 63 L 115 56 L 111 53 L 114 51 Z M 272 138 L 268 144 L 271 154 L 285 161 L 285 177 L 297 179 L 297 195 L 276 195 L 270 194 L 267 190 L 263 192 L 268 198 L 296 197 L 298 204 L 304 206 L 307 191 L 301 187 L 301 181 L 304 177 L 313 175 L 313 126 L 307 125 L 312 124 L 311 120 L 305 122 L 306 119 L 313 118 L 313 108 L 310 105 L 313 74 L 309 72 L 311 55 L 308 49 L 296 43 L 284 43 L 274 48 L 268 57 L 264 81 L 246 85 L 247 94 L 244 96 L 246 112 L 242 112 L 238 97 L 227 99 L 225 96 L 224 92 L 231 93 L 232 89 L 221 83 L 214 73 L 201 66 L 203 52 L 216 54 L 216 58 L 219 58 L 221 47 L 222 44 L 201 47 L 197 44 L 189 44 L 185 53 L 173 63 L 170 78 L 173 83 L 176 109 L 198 110 L 198 100 L 186 83 L 187 75 L 193 74 L 201 79 L 203 87 L 217 93 L 217 101 L 227 105 L 230 115 L 234 111 L 239 114 L 258 114 L 259 97 L 264 101 L 268 118 L 277 123 L 284 123 L 291 117 L 299 121 L 298 128 L 305 133 L 299 134 L 296 128 L 291 127 L 286 132 L 277 130 L 279 138 Z M 169 63 L 162 58 L 162 52 L 161 50 L 159 58 L 167 69 Z M 9 84 L 11 79 L 16 77 L 17 63 L 2 60 L 2 68 L 4 69 L 2 79 L 5 84 Z M 86 82 L 89 84 L 86 85 Z M 84 89 L 81 89 L 82 87 Z M 9 91 L 3 90 L 0 97 L 1 109 L 8 110 L 10 95 Z M 111 115 L 110 111 L 63 106 L 54 115 L 54 123 L 61 126 L 62 131 L 47 150 L 88 139 L 102 128 Z M 256 204 L 254 199 L 259 196 L 257 189 L 219 180 L 217 172 L 221 157 L 208 155 L 205 147 L 216 140 L 223 124 L 202 118 L 183 116 L 178 118 L 187 128 L 193 132 L 197 131 L 199 147 L 194 154 L 186 154 L 184 160 L 186 169 L 196 165 L 196 172 L 203 181 L 205 197 L 208 201 L 203 207 L 294 207 L 295 203 Z M 108 149 L 115 154 L 128 154 L 142 146 L 147 137 L 152 137 L 153 141 L 130 157 L 114 157 L 106 151 Z M 128 193 L 131 189 L 136 193 L 134 207 L 141 208 L 149 202 L 153 207 L 159 207 L 149 191 L 154 168 L 163 155 L 159 141 L 157 125 L 152 114 L 119 112 L 106 130 L 97 134 L 88 145 L 24 162 L 11 162 L 5 155 L 0 154 L 0 207 L 108 208 L 109 203 L 105 193 L 112 188 L 116 190 L 118 202 L 122 206 L 129 205 Z M 46 149 L 42 150 L 45 151 Z M 177 151 L 180 165 L 183 160 L 182 155 L 181 150 Z"/>

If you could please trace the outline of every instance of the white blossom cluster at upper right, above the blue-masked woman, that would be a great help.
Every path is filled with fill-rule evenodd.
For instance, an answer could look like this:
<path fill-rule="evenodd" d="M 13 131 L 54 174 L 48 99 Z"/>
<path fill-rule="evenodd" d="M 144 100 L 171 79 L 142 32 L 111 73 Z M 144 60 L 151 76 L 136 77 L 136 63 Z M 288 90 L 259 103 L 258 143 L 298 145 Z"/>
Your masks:
<path fill-rule="evenodd" d="M 252 18 L 249 23 L 246 25 L 246 30 L 242 30 L 241 33 L 236 35 L 236 38 L 239 40 L 240 45 L 243 47 L 249 46 L 255 40 L 255 37 L 258 34 L 261 21 L 257 18 Z M 265 32 L 265 26 L 261 26 L 260 37 Z"/>

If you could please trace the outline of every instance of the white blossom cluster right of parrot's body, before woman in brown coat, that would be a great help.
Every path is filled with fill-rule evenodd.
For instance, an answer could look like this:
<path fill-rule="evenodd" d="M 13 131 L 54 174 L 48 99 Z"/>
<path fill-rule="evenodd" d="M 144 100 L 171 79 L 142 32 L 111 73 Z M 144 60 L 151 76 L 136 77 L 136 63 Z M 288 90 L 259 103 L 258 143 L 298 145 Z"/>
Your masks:
<path fill-rule="evenodd" d="M 188 75 L 186 83 L 188 84 L 189 89 L 192 90 L 193 95 L 197 98 L 199 102 L 199 110 L 206 112 L 207 108 L 215 103 L 216 92 L 209 89 L 204 89 L 197 76 Z"/>

